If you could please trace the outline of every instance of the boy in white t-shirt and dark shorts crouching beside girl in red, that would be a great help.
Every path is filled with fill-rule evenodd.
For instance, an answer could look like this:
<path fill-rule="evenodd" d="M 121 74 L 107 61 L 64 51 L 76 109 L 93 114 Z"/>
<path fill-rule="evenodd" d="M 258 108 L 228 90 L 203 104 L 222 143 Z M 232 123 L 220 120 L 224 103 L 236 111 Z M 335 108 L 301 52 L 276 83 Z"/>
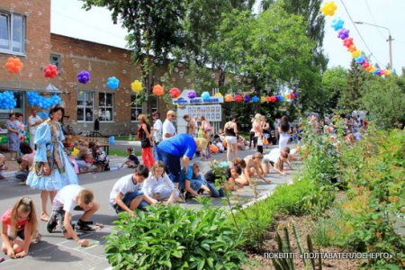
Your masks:
<path fill-rule="evenodd" d="M 68 184 L 62 187 L 53 199 L 53 211 L 47 223 L 47 230 L 52 232 L 58 225 L 58 221 L 63 224 L 61 226 L 65 238 L 73 238 L 80 246 L 88 246 L 87 239 L 77 237 L 70 220 L 72 212 L 85 211 L 85 213 L 76 222 L 76 230 L 93 231 L 89 225 L 93 221 L 88 221 L 100 208 L 98 202 L 94 202 L 94 193 L 91 190 L 85 189 L 78 184 Z"/>

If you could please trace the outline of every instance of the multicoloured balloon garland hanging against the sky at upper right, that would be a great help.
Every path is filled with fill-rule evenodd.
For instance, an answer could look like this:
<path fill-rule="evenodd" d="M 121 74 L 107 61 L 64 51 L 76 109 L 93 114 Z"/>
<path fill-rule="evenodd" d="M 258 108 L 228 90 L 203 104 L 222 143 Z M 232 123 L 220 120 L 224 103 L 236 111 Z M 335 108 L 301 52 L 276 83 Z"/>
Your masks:
<path fill-rule="evenodd" d="M 333 2 L 325 2 L 320 11 L 324 16 L 333 16 L 337 11 L 338 6 Z M 390 76 L 391 70 L 385 70 L 383 68 L 376 68 L 373 64 L 369 63 L 364 57 L 362 51 L 356 48 L 353 38 L 349 37 L 350 31 L 343 27 L 345 22 L 340 18 L 335 18 L 332 20 L 331 26 L 335 31 L 338 31 L 338 38 L 343 40 L 343 46 L 347 47 L 347 51 L 351 53 L 352 58 L 355 59 L 356 63 L 361 65 L 369 73 L 373 73 L 378 76 Z"/>

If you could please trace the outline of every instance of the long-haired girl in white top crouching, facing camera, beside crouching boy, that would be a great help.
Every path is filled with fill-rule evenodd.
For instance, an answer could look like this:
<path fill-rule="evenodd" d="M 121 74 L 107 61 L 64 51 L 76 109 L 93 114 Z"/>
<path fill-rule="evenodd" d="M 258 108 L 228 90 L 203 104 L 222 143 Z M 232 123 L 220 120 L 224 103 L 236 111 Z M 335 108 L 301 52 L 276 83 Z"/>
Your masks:
<path fill-rule="evenodd" d="M 148 196 L 152 200 L 163 201 L 168 199 L 167 203 L 176 202 L 179 194 L 175 184 L 166 174 L 165 164 L 162 161 L 157 161 L 152 166 L 152 171 L 143 184 L 142 192 L 145 197 Z"/>

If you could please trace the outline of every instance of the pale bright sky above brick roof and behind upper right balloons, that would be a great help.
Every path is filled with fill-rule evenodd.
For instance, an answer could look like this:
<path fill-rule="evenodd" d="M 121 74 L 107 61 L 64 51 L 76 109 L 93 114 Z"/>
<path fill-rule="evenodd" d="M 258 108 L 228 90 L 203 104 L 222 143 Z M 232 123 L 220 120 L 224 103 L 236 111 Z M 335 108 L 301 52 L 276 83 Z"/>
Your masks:
<path fill-rule="evenodd" d="M 380 67 L 389 64 L 388 31 L 366 24 L 381 25 L 388 28 L 392 34 L 392 64 L 398 74 L 405 67 L 405 0 L 336 0 L 338 10 L 333 17 L 326 18 L 325 38 L 323 49 L 329 57 L 328 67 L 349 67 L 351 56 L 338 39 L 337 32 L 330 26 L 334 18 L 340 17 L 344 27 L 350 31 L 350 36 L 356 47 L 369 56 L 372 63 Z M 344 4 L 347 7 L 345 10 Z M 112 23 L 111 12 L 104 8 L 94 7 L 86 12 L 78 0 L 52 0 L 51 32 L 90 40 L 97 43 L 125 48 L 124 40 L 127 31 L 120 25 Z M 359 33 L 356 31 L 360 32 Z M 363 38 L 363 40 L 361 39 Z"/>

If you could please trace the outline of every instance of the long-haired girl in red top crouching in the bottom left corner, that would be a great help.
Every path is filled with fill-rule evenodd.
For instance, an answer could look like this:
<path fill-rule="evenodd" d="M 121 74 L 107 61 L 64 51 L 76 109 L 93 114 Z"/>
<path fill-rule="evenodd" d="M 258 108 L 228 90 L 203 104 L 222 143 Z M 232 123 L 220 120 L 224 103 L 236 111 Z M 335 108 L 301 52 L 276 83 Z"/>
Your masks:
<path fill-rule="evenodd" d="M 34 204 L 30 197 L 22 197 L 2 216 L 2 250 L 11 258 L 26 257 L 31 239 L 40 235 Z"/>

